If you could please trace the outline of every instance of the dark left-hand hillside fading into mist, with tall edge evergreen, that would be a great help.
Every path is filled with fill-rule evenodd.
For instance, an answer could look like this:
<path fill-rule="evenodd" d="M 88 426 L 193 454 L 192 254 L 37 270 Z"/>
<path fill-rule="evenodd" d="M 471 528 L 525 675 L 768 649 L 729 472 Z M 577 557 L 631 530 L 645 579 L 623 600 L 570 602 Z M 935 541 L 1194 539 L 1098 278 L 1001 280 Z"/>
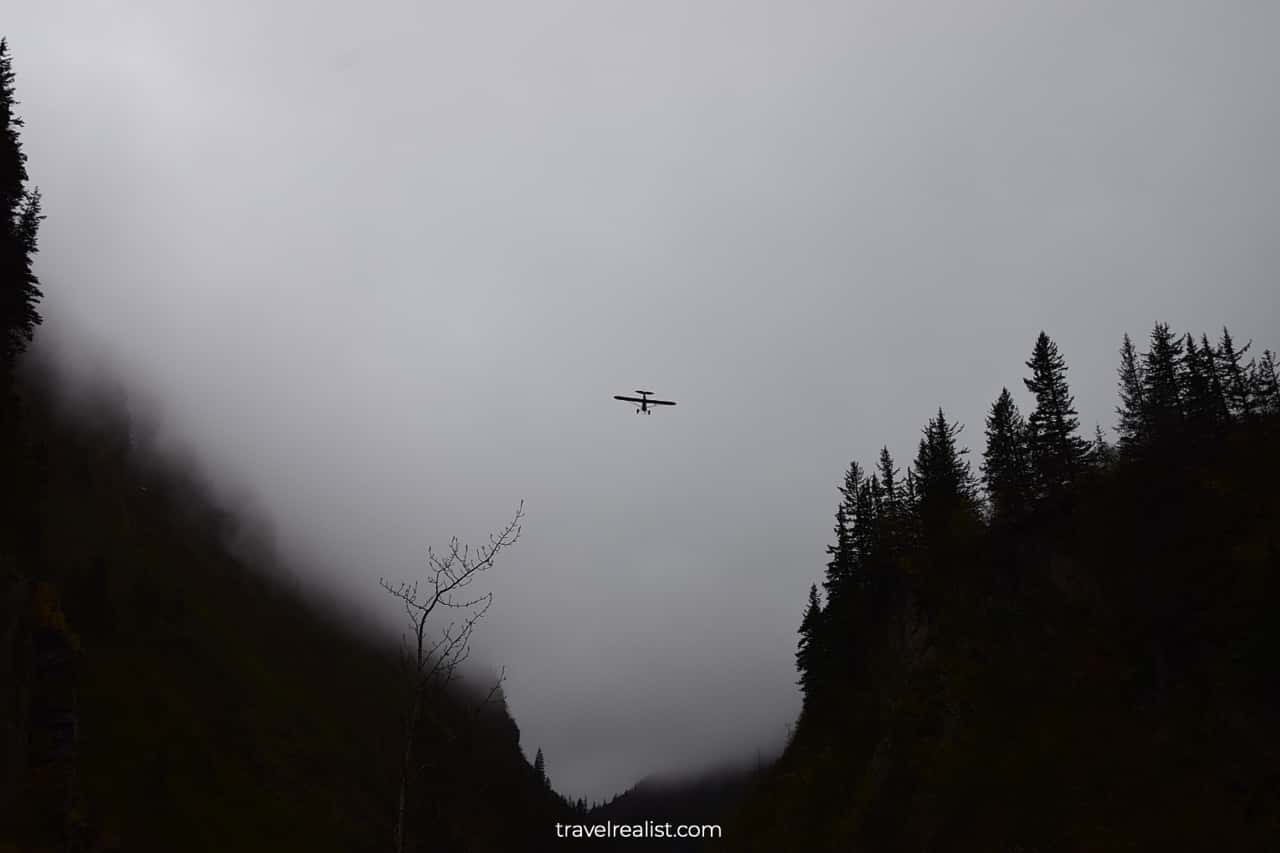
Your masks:
<path fill-rule="evenodd" d="M 72 400 L 23 355 L 41 213 L 14 102 L 0 42 L 0 850 L 397 849 L 392 631 L 303 596 L 115 386 Z M 568 811 L 485 678 L 425 697 L 404 850 L 536 849 Z"/>

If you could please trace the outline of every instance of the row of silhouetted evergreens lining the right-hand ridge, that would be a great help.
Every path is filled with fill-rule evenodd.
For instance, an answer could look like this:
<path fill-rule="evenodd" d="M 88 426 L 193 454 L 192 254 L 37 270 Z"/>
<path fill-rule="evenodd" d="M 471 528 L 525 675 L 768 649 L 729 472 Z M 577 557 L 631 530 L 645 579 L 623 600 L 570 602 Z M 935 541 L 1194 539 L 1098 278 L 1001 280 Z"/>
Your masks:
<path fill-rule="evenodd" d="M 1176 456 L 1233 425 L 1280 414 L 1275 353 L 1265 350 L 1245 361 L 1251 348 L 1252 342 L 1236 347 L 1225 328 L 1213 346 L 1206 334 L 1197 341 L 1157 323 L 1147 352 L 1139 353 L 1125 334 L 1116 452 L 1101 428 L 1093 441 L 1079 434 L 1066 361 L 1041 332 L 1023 380 L 1034 409 L 1023 418 L 1009 389 L 1000 392 L 987 415 L 980 478 L 959 444 L 963 426 L 941 409 L 925 424 L 905 475 L 888 447 L 869 474 L 851 462 L 838 489 L 824 596 L 817 584 L 809 588 L 800 624 L 796 666 L 805 708 L 828 681 L 856 671 L 859 616 L 890 612 L 913 576 L 954 556 L 965 539 L 1037 514 L 1070 511 L 1076 485 L 1116 464 Z"/>

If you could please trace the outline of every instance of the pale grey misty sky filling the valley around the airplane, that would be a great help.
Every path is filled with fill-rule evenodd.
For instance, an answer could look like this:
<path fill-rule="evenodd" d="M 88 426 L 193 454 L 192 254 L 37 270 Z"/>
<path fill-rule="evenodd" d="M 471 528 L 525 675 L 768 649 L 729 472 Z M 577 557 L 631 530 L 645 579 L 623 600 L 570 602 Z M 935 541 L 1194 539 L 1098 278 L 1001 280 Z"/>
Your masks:
<path fill-rule="evenodd" d="M 485 660 L 603 797 L 776 747 L 851 459 L 1044 328 L 1280 345 L 1280 4 L 8 4 L 45 343 L 351 607 L 524 498 Z M 636 418 L 613 393 L 680 401 Z M 394 624 L 388 621 L 388 624 Z"/>

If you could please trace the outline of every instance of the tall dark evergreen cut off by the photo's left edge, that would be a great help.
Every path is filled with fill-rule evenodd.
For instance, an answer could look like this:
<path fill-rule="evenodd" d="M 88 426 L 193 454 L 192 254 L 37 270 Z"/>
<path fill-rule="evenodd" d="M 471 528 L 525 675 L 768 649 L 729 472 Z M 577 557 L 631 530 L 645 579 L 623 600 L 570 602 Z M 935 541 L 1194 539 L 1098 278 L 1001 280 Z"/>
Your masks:
<path fill-rule="evenodd" d="M 40 314 L 40 282 L 32 270 L 36 234 L 44 216 L 40 191 L 27 190 L 27 155 L 14 113 L 14 73 L 9 46 L 0 38 L 0 370 L 31 342 Z"/>

